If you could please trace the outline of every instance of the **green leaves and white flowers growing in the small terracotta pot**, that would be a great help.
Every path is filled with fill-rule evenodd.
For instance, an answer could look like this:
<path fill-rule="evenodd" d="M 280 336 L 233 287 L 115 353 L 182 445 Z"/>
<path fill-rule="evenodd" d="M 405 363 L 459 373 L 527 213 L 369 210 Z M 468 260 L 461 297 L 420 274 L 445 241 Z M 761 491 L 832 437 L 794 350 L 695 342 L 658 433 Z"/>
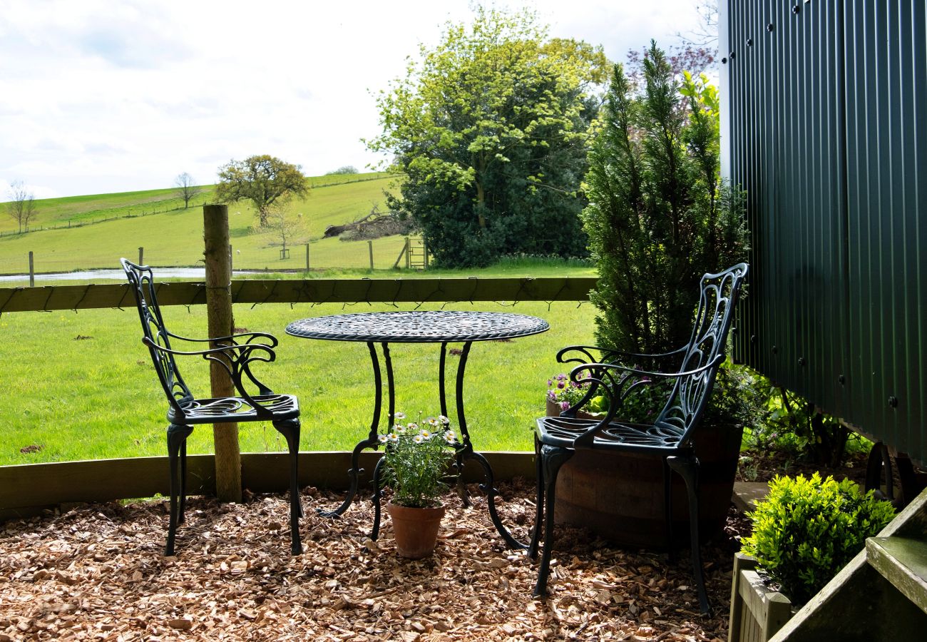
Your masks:
<path fill-rule="evenodd" d="M 384 446 L 383 481 L 393 490 L 393 504 L 411 508 L 438 505 L 438 498 L 448 489 L 444 479 L 454 458 L 457 438 L 451 421 L 443 415 L 425 421 L 397 422 L 380 435 Z"/>

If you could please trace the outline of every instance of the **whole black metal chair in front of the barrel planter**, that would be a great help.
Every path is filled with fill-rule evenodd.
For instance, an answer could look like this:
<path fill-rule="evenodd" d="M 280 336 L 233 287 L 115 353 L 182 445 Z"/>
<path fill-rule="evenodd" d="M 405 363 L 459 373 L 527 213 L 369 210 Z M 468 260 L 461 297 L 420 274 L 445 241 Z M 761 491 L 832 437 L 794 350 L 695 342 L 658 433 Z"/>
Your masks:
<path fill-rule="evenodd" d="M 606 350 L 595 346 L 569 346 L 557 353 L 560 363 L 578 363 L 570 379 L 589 383 L 588 392 L 559 417 L 540 417 L 535 430 L 538 489 L 537 517 L 528 556 L 537 559 L 541 524 L 544 523 L 544 547 L 540 559 L 535 596 L 547 591 L 553 541 L 553 503 L 557 473 L 561 466 L 580 448 L 612 452 L 654 453 L 663 458 L 664 507 L 667 542 L 672 546 L 671 471 L 676 471 L 686 484 L 689 496 L 689 520 L 692 544 L 692 568 L 698 585 L 702 611 L 709 611 L 705 593 L 705 577 L 699 550 L 698 533 L 698 473 L 696 456 L 697 427 L 705 412 L 717 376 L 717 368 L 725 358 L 725 344 L 733 319 L 733 309 L 747 273 L 746 263 L 734 265 L 717 275 L 702 277 L 702 292 L 695 315 L 692 337 L 679 350 L 666 354 L 633 354 Z M 598 353 L 597 358 L 593 356 Z M 624 363 L 639 364 L 643 360 L 675 361 L 675 367 L 664 371 L 638 369 Z M 605 363 L 599 363 L 605 362 Z M 642 392 L 653 391 L 665 382 L 667 394 L 659 397 L 662 409 L 654 413 L 651 423 L 622 420 L 624 404 L 640 400 Z M 603 418 L 578 418 L 593 397 L 604 394 L 608 411 Z M 651 393 L 649 398 L 653 398 Z M 659 408 L 657 405 L 656 408 Z M 621 489 L 616 488 L 616 493 Z M 546 523 L 544 515 L 547 515 Z"/>

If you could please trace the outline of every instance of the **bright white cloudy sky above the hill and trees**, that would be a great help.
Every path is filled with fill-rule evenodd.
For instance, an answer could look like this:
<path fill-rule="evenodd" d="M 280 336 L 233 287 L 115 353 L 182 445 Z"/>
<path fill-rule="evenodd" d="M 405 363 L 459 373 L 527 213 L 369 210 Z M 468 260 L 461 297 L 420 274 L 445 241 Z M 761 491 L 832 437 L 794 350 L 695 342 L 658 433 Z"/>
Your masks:
<path fill-rule="evenodd" d="M 554 36 L 624 60 L 675 44 L 695 0 L 525 0 Z M 497 6 L 505 6 L 497 3 Z M 272 154 L 308 175 L 378 158 L 373 94 L 468 0 L 0 0 L 0 200 L 213 183 Z"/>

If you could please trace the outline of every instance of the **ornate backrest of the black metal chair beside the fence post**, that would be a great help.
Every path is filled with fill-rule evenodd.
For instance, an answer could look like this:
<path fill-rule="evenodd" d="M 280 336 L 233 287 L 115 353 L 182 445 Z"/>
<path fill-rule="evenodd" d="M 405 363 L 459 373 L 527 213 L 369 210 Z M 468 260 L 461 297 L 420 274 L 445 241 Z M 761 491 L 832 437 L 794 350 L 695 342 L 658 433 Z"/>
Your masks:
<path fill-rule="evenodd" d="M 168 402 L 180 417 L 184 416 L 182 403 L 193 399 L 190 389 L 177 370 L 177 364 L 172 354 L 160 353 L 153 346 L 160 345 L 171 349 L 170 333 L 164 327 L 161 309 L 158 305 L 158 296 L 155 288 L 154 276 L 147 265 L 136 265 L 127 259 L 120 259 L 122 269 L 129 279 L 129 287 L 135 295 L 135 304 L 138 307 L 138 317 L 142 322 L 142 342 L 148 346 L 151 361 L 158 372 L 161 387 L 168 397 Z"/>

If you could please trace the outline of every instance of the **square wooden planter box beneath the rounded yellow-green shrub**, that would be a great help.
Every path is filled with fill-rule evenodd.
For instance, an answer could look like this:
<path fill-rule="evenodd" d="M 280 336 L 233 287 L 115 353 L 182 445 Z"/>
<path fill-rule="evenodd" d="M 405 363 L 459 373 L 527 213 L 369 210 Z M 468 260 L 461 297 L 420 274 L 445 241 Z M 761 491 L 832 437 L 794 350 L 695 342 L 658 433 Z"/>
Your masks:
<path fill-rule="evenodd" d="M 770 591 L 756 572 L 756 559 L 734 555 L 730 586 L 729 642 L 767 642 L 793 616 L 788 597 Z"/>

